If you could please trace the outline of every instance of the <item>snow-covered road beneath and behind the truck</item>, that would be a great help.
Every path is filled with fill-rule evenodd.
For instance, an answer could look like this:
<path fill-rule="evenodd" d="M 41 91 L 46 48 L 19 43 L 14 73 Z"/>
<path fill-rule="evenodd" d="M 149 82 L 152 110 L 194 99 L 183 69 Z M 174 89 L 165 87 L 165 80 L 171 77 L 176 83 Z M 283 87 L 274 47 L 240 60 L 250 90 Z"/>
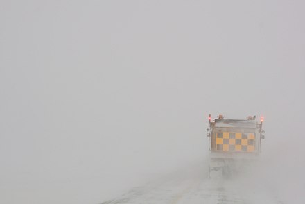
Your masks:
<path fill-rule="evenodd" d="M 135 187 L 102 204 L 114 203 L 282 203 L 259 182 L 247 178 L 207 178 L 207 168 L 201 167 Z"/>

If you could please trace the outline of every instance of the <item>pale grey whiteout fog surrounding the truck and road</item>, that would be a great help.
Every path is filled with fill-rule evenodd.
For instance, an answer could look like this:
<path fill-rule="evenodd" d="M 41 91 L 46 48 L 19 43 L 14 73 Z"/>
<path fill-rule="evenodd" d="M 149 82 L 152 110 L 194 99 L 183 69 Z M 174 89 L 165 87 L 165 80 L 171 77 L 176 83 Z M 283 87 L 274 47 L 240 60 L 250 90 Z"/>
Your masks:
<path fill-rule="evenodd" d="M 1 1 L 0 203 L 101 203 L 206 163 L 209 114 L 265 117 L 255 180 L 304 203 L 304 6 Z"/>

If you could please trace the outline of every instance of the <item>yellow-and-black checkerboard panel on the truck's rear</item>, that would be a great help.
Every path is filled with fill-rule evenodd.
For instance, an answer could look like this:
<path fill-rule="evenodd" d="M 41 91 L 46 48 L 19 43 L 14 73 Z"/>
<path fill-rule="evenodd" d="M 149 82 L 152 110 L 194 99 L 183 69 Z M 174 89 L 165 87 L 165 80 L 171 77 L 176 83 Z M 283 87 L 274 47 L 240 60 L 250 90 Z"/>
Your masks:
<path fill-rule="evenodd" d="M 255 150 L 255 135 L 254 133 L 218 132 L 216 150 L 252 152 Z"/>

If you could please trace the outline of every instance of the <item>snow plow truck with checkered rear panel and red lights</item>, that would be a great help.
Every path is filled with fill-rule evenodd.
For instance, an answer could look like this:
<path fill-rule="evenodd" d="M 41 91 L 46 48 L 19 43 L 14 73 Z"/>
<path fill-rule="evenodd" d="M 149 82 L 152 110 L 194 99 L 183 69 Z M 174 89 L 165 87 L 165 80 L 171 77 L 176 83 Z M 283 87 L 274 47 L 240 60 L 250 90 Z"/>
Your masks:
<path fill-rule="evenodd" d="M 209 178 L 229 177 L 259 158 L 261 140 L 265 139 L 263 117 L 225 119 L 209 114 Z"/>

